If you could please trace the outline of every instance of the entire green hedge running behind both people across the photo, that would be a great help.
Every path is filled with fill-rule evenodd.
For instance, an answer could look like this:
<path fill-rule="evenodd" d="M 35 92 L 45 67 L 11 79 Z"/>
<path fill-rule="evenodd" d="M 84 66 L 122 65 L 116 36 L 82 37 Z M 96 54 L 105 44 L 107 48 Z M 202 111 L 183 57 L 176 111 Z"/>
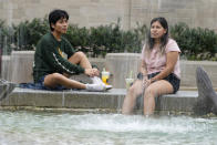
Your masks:
<path fill-rule="evenodd" d="M 117 23 L 90 29 L 69 24 L 64 37 L 75 50 L 96 58 L 106 53 L 141 53 L 148 30 L 145 24 L 137 24 L 135 29 L 124 31 L 118 20 Z M 188 60 L 217 60 L 217 34 L 213 30 L 189 28 L 186 23 L 170 25 L 169 30 L 182 55 Z M 40 38 L 49 31 L 46 18 L 20 22 L 12 28 L 0 20 L 0 48 L 3 48 L 4 54 L 10 54 L 11 50 L 34 50 Z"/>

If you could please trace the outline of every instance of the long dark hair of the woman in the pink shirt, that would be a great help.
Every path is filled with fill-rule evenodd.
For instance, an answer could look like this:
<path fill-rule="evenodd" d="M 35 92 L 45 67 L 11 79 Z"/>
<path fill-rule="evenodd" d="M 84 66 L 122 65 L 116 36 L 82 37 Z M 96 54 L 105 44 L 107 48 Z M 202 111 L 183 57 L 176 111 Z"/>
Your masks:
<path fill-rule="evenodd" d="M 163 17 L 158 17 L 158 18 L 154 18 L 152 21 L 151 21 L 151 27 L 154 22 L 158 21 L 161 23 L 161 25 L 166 29 L 166 33 L 161 38 L 161 52 L 162 54 L 165 53 L 165 46 L 168 42 L 168 24 L 167 24 L 167 21 L 165 18 Z M 152 51 L 152 49 L 154 48 L 154 44 L 155 44 L 155 40 L 151 37 L 151 30 L 147 34 L 147 42 L 146 42 L 146 50 L 147 51 Z"/>

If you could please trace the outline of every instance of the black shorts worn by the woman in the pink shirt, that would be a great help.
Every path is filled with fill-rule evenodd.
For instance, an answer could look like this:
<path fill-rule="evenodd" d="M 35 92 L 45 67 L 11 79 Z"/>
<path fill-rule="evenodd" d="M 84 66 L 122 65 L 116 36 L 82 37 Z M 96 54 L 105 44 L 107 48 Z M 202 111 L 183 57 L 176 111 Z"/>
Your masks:
<path fill-rule="evenodd" d="M 158 73 L 159 72 L 148 74 L 147 77 L 152 79 L 152 77 L 156 76 Z M 138 73 L 137 79 L 143 80 L 143 74 Z M 179 90 L 180 80 L 174 73 L 170 73 L 168 76 L 164 77 L 163 80 L 166 80 L 172 84 L 172 86 L 174 89 L 174 92 L 173 92 L 174 94 Z"/>

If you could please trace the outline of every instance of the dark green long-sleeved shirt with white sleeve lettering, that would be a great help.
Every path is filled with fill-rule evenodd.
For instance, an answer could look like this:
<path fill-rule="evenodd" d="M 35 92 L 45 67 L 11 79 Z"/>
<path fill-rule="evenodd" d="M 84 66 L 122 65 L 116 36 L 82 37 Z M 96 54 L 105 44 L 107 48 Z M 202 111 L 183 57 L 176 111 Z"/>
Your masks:
<path fill-rule="evenodd" d="M 58 41 L 52 33 L 43 35 L 37 44 L 34 53 L 34 82 L 38 82 L 42 76 L 52 73 L 83 73 L 83 68 L 68 61 L 74 52 L 74 49 L 66 39 L 61 38 L 61 41 Z"/>

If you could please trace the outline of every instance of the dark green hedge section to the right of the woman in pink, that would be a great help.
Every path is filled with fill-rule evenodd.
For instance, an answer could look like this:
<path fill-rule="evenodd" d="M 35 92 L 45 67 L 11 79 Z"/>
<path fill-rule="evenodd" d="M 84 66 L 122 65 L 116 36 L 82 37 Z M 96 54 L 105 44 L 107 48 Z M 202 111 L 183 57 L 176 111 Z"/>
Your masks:
<path fill-rule="evenodd" d="M 217 34 L 213 30 L 177 23 L 170 27 L 170 35 L 188 60 L 216 60 Z"/>

